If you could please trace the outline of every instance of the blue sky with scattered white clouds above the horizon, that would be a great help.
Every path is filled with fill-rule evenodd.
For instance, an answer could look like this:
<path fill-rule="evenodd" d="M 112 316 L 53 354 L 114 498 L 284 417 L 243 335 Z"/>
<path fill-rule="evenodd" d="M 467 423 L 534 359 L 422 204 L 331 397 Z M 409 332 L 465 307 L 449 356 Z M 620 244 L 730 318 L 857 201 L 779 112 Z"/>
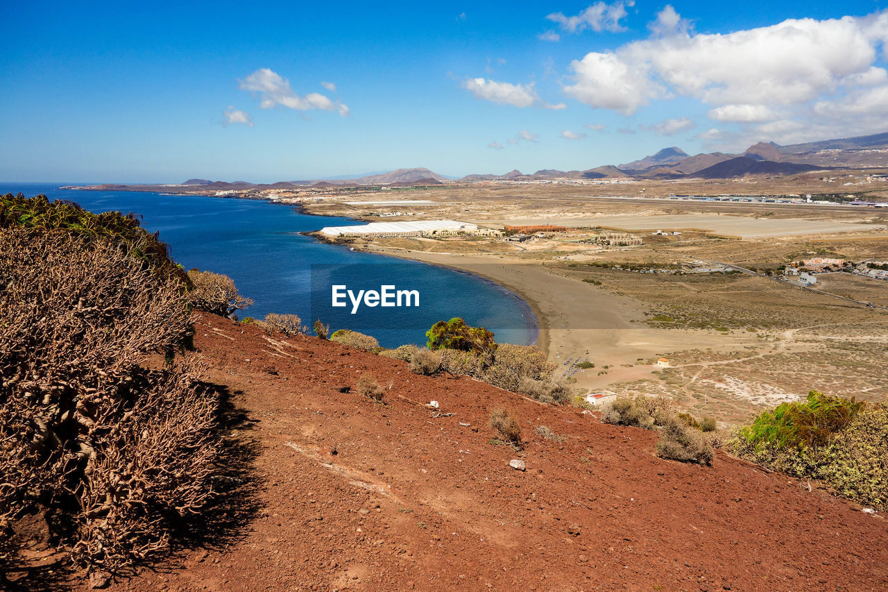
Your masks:
<path fill-rule="evenodd" d="M 0 179 L 588 169 L 888 131 L 888 0 L 0 4 Z"/>

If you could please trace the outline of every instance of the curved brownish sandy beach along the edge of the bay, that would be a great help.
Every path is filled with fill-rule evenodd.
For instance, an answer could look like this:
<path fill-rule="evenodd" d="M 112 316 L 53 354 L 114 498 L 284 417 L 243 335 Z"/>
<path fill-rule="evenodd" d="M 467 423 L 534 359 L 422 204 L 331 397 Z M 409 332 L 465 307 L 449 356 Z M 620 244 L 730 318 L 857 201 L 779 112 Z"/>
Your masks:
<path fill-rule="evenodd" d="M 574 375 L 577 386 L 590 390 L 649 377 L 656 370 L 653 359 L 670 352 L 694 348 L 731 351 L 755 342 L 746 335 L 648 326 L 644 324 L 644 303 L 538 263 L 493 255 L 385 248 L 372 252 L 461 269 L 515 292 L 534 311 L 540 326 L 538 345 L 559 368 L 577 356 L 588 356 L 595 364 L 595 368 Z M 599 374 L 606 365 L 607 373 Z"/>

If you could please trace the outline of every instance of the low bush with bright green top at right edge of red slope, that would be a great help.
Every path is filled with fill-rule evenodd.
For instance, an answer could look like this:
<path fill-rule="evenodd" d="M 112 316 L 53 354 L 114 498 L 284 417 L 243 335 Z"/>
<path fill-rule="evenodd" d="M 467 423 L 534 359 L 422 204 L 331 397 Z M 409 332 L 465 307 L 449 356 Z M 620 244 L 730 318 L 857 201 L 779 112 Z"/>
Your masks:
<path fill-rule="evenodd" d="M 741 428 L 737 456 L 789 475 L 821 479 L 838 494 L 888 510 L 888 404 L 809 393 Z"/>

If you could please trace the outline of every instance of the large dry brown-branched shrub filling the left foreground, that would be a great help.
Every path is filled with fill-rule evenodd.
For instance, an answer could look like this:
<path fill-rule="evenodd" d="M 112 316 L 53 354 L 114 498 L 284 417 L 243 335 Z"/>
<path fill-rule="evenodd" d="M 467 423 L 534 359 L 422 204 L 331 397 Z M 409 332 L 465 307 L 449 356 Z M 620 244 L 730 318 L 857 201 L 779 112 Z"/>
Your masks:
<path fill-rule="evenodd" d="M 0 230 L 0 524 L 44 511 L 77 564 L 166 548 L 210 495 L 216 398 L 168 358 L 191 331 L 178 276 L 126 244 Z"/>

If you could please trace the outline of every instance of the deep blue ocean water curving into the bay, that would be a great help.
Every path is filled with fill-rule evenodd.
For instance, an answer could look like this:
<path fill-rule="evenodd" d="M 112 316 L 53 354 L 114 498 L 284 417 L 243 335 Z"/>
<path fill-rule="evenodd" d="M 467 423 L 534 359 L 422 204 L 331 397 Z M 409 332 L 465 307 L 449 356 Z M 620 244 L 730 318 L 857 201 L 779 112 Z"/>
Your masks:
<path fill-rule="evenodd" d="M 453 269 L 353 252 L 323 244 L 298 233 L 325 226 L 359 224 L 354 220 L 309 216 L 285 204 L 203 196 L 164 196 L 125 191 L 72 191 L 63 183 L 0 183 L 0 193 L 40 193 L 67 199 L 91 212 L 137 213 L 142 226 L 160 232 L 172 258 L 186 269 L 215 271 L 234 279 L 238 291 L 255 300 L 241 317 L 262 318 L 271 312 L 296 314 L 303 323 L 314 319 L 332 331 L 352 329 L 376 337 L 393 348 L 424 344 L 432 324 L 453 316 L 493 331 L 500 342 L 536 342 L 537 324 L 527 303 L 502 286 Z M 418 307 L 369 307 L 362 301 L 331 306 L 331 285 L 353 291 L 383 285 L 416 290 Z M 406 302 L 406 299 L 404 300 Z"/>

